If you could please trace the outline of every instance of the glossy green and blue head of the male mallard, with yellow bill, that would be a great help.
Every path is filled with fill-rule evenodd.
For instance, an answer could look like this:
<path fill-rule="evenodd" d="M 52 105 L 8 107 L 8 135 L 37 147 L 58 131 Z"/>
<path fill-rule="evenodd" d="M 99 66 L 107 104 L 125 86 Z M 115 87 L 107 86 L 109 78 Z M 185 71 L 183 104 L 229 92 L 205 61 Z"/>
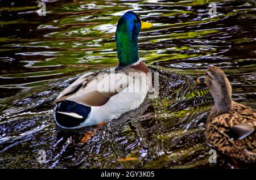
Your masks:
<path fill-rule="evenodd" d="M 126 12 L 119 19 L 115 32 L 119 66 L 129 66 L 139 60 L 138 35 L 143 23 L 133 11 Z M 150 27 L 150 24 L 147 23 L 147 27 Z"/>

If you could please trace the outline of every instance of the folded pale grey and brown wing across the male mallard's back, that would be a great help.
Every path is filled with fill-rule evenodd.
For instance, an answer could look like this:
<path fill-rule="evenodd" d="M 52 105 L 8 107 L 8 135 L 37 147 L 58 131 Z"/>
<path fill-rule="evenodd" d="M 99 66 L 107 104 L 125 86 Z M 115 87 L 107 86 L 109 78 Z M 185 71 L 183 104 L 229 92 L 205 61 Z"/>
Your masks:
<path fill-rule="evenodd" d="M 65 88 L 54 102 L 69 100 L 85 106 L 101 106 L 110 97 L 127 88 L 127 79 L 129 78 L 124 72 L 88 72 Z"/>

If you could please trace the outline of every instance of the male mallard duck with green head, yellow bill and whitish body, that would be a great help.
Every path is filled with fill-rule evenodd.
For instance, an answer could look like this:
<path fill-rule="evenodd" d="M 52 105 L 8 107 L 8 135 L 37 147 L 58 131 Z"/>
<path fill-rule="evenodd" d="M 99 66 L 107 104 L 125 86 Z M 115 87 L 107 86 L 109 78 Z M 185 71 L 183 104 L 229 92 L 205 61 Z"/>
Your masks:
<path fill-rule="evenodd" d="M 138 35 L 141 28 L 151 26 L 132 11 L 119 19 L 115 32 L 118 66 L 88 72 L 65 88 L 54 101 L 57 125 L 63 128 L 98 125 L 142 104 L 151 83 L 147 66 L 139 61 Z"/>

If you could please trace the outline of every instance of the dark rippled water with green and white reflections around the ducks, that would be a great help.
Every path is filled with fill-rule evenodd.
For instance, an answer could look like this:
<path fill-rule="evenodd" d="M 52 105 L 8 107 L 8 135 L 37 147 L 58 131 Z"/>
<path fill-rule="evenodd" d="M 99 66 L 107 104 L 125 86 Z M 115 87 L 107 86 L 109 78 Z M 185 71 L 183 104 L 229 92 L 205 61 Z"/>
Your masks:
<path fill-rule="evenodd" d="M 212 98 L 195 78 L 222 67 L 234 100 L 256 108 L 255 1 L 210 1 L 213 17 L 199 0 L 43 2 L 46 16 L 38 1 L 0 1 L 0 168 L 232 168 L 225 156 L 208 162 Z M 154 23 L 140 33 L 139 57 L 159 72 L 159 97 L 100 128 L 56 128 L 59 92 L 117 65 L 115 26 L 128 10 Z"/>

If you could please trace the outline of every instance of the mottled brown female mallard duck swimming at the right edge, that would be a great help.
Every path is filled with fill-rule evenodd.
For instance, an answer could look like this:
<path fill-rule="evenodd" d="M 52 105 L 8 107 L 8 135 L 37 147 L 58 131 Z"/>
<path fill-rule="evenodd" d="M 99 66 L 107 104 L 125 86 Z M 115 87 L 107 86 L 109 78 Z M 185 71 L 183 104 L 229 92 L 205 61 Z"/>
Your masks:
<path fill-rule="evenodd" d="M 205 136 L 210 144 L 230 157 L 256 162 L 256 110 L 232 101 L 232 87 L 225 73 L 210 67 L 197 82 L 207 84 L 214 99 Z"/>

